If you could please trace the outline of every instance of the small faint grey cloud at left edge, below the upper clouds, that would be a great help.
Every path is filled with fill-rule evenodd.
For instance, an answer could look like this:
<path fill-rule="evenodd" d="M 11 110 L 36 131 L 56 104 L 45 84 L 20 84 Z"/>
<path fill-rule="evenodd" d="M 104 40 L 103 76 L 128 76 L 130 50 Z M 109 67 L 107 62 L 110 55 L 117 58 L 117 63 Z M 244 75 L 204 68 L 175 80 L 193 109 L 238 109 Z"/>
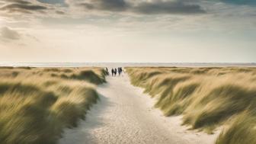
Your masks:
<path fill-rule="evenodd" d="M 0 37 L 8 40 L 18 40 L 21 38 L 21 35 L 17 31 L 11 30 L 8 27 L 2 27 L 0 29 Z"/>

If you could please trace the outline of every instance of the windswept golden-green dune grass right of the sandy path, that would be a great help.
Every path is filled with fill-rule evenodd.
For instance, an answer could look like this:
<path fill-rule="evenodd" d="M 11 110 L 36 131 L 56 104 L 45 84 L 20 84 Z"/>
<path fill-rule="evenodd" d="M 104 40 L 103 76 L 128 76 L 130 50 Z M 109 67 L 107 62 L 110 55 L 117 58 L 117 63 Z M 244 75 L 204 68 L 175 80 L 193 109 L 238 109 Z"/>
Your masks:
<path fill-rule="evenodd" d="M 256 143 L 255 68 L 126 68 L 133 85 L 157 99 L 165 116 L 214 133 L 217 144 Z"/>

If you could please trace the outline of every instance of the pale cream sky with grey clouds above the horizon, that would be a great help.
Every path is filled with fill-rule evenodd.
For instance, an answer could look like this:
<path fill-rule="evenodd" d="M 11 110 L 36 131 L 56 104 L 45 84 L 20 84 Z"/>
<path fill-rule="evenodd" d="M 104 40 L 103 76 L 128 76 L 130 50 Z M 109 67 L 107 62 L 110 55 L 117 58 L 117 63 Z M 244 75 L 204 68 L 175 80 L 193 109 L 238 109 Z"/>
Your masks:
<path fill-rule="evenodd" d="M 0 0 L 0 62 L 256 62 L 256 1 Z"/>

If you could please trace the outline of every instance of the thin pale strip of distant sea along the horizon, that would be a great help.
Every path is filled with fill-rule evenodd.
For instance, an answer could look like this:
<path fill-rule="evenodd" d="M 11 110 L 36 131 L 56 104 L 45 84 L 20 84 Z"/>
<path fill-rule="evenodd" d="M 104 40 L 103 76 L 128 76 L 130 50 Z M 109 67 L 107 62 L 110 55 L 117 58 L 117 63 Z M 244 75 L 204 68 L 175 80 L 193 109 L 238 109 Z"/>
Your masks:
<path fill-rule="evenodd" d="M 176 66 L 176 67 L 226 67 L 242 66 L 256 67 L 256 63 L 188 63 L 188 62 L 20 62 L 0 63 L 0 66 L 30 66 L 30 67 L 116 67 L 116 66 Z"/>

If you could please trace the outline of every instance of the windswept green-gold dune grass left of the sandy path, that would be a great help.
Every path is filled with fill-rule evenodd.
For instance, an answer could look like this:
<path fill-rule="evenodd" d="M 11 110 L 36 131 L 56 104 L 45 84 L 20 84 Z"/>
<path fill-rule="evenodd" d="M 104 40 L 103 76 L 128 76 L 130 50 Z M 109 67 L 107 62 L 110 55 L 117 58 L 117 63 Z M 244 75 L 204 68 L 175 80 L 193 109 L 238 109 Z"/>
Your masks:
<path fill-rule="evenodd" d="M 56 143 L 85 119 L 105 75 L 100 68 L 1 68 L 0 143 Z"/>

